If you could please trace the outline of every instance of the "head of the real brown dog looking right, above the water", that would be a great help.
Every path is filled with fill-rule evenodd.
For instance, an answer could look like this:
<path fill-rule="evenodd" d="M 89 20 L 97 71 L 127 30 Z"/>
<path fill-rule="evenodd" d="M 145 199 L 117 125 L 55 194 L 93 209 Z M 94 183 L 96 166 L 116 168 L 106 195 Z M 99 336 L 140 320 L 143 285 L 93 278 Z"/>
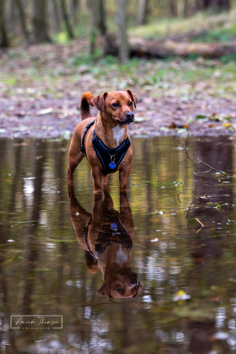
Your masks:
<path fill-rule="evenodd" d="M 130 90 L 104 92 L 92 99 L 92 103 L 103 113 L 105 120 L 112 119 L 125 125 L 134 121 L 133 106 L 136 108 L 137 101 L 137 95 Z"/>

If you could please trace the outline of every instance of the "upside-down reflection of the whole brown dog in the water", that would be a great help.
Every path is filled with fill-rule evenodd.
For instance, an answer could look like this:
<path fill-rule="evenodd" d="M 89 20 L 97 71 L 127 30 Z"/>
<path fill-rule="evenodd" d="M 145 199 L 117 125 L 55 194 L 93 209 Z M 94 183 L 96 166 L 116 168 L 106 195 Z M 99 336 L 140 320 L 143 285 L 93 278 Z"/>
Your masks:
<path fill-rule="evenodd" d="M 113 209 L 108 191 L 104 190 L 103 201 L 102 195 L 95 195 L 91 215 L 76 200 L 73 187 L 69 189 L 71 220 L 78 242 L 85 249 L 86 266 L 91 273 L 96 273 L 98 267 L 103 273 L 104 284 L 97 294 L 135 298 L 143 286 L 130 265 L 134 225 L 126 194 L 120 194 L 120 213 Z"/>

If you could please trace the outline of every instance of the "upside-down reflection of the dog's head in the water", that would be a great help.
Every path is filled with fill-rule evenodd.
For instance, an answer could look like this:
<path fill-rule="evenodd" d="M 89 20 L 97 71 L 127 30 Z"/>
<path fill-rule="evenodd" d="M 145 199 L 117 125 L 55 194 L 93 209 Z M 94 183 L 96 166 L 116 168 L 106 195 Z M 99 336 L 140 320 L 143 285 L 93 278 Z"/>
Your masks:
<path fill-rule="evenodd" d="M 105 281 L 97 294 L 107 298 L 136 298 L 142 289 L 143 285 L 138 281 L 137 274 L 130 272 L 116 274 L 112 280 Z"/>

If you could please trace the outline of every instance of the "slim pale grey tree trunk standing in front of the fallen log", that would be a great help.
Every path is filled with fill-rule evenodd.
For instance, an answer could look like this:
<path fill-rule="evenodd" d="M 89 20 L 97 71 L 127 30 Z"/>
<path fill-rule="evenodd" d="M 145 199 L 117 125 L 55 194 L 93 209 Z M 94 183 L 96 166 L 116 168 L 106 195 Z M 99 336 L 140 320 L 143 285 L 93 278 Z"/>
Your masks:
<path fill-rule="evenodd" d="M 117 1 L 117 23 L 119 25 L 118 41 L 119 41 L 119 56 L 122 63 L 125 63 L 129 58 L 129 45 L 127 37 L 126 24 L 126 0 Z"/>

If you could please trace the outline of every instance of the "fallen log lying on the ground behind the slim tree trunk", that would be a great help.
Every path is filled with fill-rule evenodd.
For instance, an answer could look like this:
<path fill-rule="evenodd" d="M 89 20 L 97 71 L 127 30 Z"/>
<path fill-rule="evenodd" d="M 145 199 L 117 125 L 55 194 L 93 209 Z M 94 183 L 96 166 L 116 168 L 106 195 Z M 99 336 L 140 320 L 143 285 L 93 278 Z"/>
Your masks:
<path fill-rule="evenodd" d="M 145 41 L 141 38 L 130 38 L 130 56 L 165 58 L 168 56 L 190 56 L 192 54 L 209 58 L 217 58 L 236 53 L 236 41 L 215 43 L 193 43 L 176 41 Z M 107 37 L 104 53 L 117 55 L 117 41 Z"/>

